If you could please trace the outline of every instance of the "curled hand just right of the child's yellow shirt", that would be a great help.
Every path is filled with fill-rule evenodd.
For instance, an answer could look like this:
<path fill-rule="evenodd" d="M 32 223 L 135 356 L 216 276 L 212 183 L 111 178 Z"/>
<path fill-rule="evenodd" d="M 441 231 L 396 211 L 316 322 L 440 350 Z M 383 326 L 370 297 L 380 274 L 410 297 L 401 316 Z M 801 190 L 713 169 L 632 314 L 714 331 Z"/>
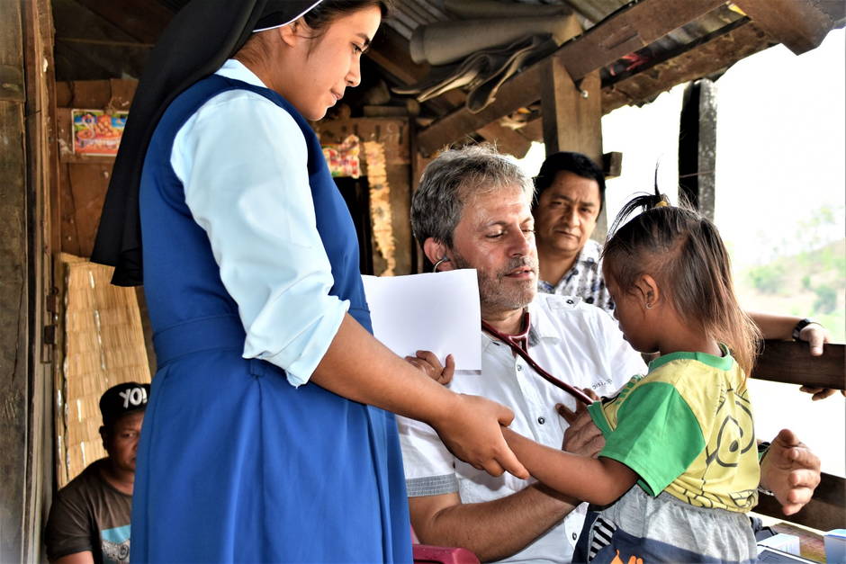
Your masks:
<path fill-rule="evenodd" d="M 761 487 L 769 489 L 784 515 L 793 515 L 811 501 L 820 483 L 820 459 L 797 435 L 782 429 L 761 460 Z"/>

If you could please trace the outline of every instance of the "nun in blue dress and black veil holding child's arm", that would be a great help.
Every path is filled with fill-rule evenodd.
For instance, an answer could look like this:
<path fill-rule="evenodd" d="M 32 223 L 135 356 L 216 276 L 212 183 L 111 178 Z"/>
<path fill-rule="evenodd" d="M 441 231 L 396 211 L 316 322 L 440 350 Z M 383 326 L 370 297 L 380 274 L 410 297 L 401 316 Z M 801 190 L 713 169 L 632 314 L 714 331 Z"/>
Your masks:
<path fill-rule="evenodd" d="M 133 562 L 410 561 L 391 412 L 526 476 L 511 413 L 370 334 L 346 204 L 306 120 L 360 82 L 379 0 L 195 0 L 153 49 L 93 260 L 143 283 L 158 368 Z"/>

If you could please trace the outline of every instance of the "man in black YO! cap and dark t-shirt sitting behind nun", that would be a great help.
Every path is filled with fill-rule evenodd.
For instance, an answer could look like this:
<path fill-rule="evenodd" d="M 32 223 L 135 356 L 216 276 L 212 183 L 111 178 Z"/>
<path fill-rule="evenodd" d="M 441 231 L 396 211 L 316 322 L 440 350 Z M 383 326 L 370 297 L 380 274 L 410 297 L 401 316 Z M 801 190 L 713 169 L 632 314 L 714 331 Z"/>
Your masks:
<path fill-rule="evenodd" d="M 100 398 L 106 458 L 61 488 L 50 507 L 45 538 L 53 564 L 130 561 L 135 453 L 149 384 L 124 382 Z"/>

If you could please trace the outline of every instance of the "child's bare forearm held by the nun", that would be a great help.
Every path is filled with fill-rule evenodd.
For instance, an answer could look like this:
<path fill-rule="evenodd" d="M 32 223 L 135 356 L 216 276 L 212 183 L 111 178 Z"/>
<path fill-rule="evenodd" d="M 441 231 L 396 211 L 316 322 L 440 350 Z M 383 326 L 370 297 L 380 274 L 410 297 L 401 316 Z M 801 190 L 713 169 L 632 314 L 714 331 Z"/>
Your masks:
<path fill-rule="evenodd" d="M 615 460 L 558 451 L 508 428 L 502 434 L 532 476 L 566 496 L 607 506 L 637 481 L 634 470 Z"/>

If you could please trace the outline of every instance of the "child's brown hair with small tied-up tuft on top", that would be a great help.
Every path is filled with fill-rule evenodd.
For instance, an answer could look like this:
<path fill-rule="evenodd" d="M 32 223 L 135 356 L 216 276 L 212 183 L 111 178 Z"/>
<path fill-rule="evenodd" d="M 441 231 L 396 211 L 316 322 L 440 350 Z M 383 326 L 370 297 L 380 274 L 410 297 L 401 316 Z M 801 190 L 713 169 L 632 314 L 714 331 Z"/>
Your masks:
<path fill-rule="evenodd" d="M 644 211 L 619 227 L 639 208 Z M 680 318 L 728 345 L 748 375 L 761 333 L 737 303 L 731 260 L 716 226 L 688 204 L 669 205 L 656 190 L 626 203 L 611 233 L 602 256 L 620 289 L 631 291 L 639 276 L 653 276 Z"/>

